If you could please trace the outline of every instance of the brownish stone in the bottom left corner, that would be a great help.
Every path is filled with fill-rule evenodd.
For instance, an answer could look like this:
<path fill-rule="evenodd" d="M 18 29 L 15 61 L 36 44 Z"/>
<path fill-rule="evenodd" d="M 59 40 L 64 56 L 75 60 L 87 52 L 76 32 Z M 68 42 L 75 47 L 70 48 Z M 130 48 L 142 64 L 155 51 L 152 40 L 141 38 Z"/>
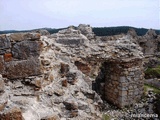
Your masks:
<path fill-rule="evenodd" d="M 10 111 L 0 114 L 1 120 L 24 120 L 22 117 L 21 110 L 18 108 L 13 108 Z"/>

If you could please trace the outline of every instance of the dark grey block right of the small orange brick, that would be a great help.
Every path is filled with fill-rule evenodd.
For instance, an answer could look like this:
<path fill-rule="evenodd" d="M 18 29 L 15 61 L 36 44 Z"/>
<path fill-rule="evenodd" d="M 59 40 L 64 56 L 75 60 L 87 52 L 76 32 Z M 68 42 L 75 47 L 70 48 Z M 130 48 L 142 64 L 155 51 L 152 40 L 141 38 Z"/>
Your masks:
<path fill-rule="evenodd" d="M 16 43 L 12 48 L 12 54 L 17 59 L 27 59 L 29 57 L 38 57 L 41 50 L 41 42 L 22 41 Z"/>

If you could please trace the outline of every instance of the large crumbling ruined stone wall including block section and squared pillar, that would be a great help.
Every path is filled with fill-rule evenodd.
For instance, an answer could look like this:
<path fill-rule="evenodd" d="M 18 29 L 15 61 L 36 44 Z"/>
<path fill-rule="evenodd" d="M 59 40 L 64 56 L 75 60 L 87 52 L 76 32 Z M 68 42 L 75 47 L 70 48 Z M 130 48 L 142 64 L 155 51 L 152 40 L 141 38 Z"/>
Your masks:
<path fill-rule="evenodd" d="M 89 25 L 39 35 L 0 37 L 0 42 L 7 42 L 4 49 L 0 47 L 0 73 L 6 77 L 0 95 L 2 113 L 16 106 L 25 120 L 55 119 L 54 115 L 57 119 L 99 120 L 103 101 L 91 83 L 104 63 L 108 64 L 100 84 L 105 87 L 103 95 L 122 106 L 140 99 L 143 53 L 133 38 L 119 35 L 104 40 L 96 37 Z M 5 53 L 12 54 L 6 55 L 6 61 Z"/>

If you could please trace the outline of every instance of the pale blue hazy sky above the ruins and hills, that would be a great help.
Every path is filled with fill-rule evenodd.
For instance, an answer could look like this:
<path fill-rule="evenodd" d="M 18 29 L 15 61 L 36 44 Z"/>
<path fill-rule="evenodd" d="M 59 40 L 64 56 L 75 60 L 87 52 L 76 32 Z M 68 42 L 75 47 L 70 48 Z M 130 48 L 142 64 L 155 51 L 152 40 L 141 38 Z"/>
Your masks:
<path fill-rule="evenodd" d="M 0 0 L 0 30 L 81 23 L 160 29 L 160 0 Z"/>

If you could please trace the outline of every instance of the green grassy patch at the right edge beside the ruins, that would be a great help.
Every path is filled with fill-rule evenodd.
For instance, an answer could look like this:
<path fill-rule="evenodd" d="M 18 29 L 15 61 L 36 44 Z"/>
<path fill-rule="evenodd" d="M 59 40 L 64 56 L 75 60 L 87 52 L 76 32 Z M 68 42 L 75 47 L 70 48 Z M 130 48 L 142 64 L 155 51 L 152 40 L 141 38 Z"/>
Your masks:
<path fill-rule="evenodd" d="M 160 78 L 160 65 L 155 68 L 148 68 L 145 71 L 145 78 Z"/>

